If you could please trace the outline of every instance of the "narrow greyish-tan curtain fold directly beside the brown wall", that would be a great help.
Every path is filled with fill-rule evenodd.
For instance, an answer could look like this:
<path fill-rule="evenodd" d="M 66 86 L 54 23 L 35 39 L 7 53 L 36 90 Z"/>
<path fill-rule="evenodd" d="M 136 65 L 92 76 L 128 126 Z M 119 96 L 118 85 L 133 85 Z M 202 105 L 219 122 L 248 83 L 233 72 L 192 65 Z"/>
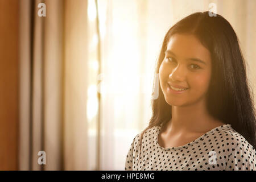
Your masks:
<path fill-rule="evenodd" d="M 19 170 L 30 169 L 30 3 L 19 4 Z"/>

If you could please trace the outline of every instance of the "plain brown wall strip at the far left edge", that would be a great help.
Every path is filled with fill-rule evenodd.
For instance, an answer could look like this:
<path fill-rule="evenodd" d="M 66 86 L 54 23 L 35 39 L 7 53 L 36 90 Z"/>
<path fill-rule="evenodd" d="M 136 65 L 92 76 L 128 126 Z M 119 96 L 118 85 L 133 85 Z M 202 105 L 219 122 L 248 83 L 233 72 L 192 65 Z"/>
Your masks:
<path fill-rule="evenodd" d="M 0 170 L 18 168 L 18 0 L 0 0 Z"/>

